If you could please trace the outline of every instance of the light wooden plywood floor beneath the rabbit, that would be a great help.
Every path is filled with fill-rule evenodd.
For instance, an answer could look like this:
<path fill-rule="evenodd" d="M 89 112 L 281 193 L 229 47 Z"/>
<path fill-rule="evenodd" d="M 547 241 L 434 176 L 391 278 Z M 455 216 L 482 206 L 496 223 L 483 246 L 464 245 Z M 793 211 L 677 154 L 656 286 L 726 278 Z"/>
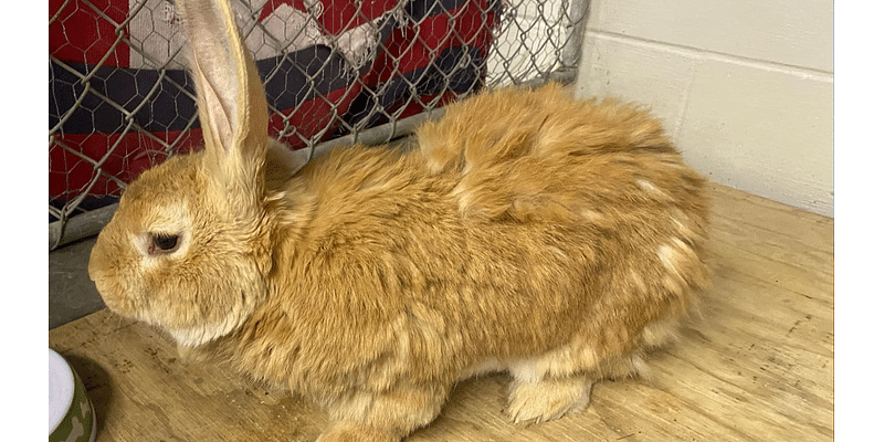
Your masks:
<path fill-rule="evenodd" d="M 506 421 L 506 376 L 460 383 L 408 441 L 829 441 L 834 438 L 833 229 L 713 187 L 714 288 L 702 318 L 653 356 L 652 380 L 597 385 L 585 413 Z M 309 403 L 178 359 L 161 333 L 106 311 L 50 332 L 84 379 L 98 441 L 312 441 Z"/>

